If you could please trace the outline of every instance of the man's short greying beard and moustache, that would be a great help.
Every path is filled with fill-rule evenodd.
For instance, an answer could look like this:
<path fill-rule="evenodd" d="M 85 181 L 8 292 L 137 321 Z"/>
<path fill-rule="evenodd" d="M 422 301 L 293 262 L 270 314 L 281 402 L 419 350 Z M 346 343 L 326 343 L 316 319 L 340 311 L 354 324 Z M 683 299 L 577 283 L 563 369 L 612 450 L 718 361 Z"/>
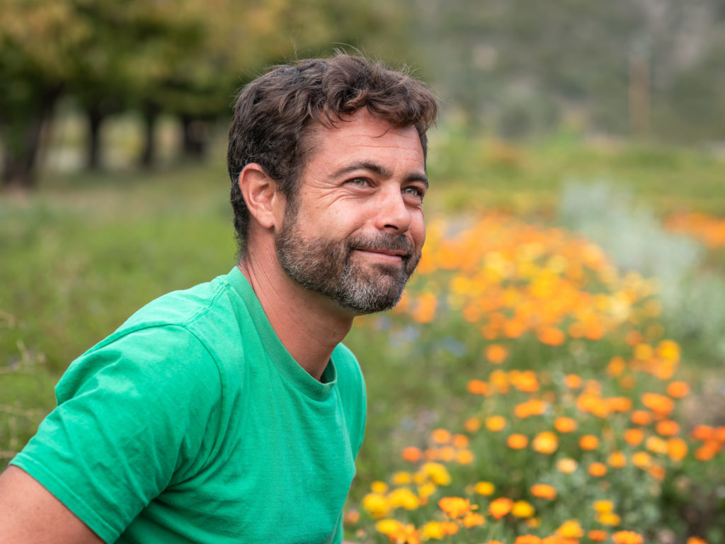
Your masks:
<path fill-rule="evenodd" d="M 285 214 L 275 245 L 287 275 L 312 292 L 323 294 L 359 315 L 393 308 L 421 260 L 402 234 L 308 239 L 297 228 L 297 214 Z M 355 250 L 402 251 L 401 263 L 360 263 Z M 355 258 L 357 257 L 357 258 Z"/>

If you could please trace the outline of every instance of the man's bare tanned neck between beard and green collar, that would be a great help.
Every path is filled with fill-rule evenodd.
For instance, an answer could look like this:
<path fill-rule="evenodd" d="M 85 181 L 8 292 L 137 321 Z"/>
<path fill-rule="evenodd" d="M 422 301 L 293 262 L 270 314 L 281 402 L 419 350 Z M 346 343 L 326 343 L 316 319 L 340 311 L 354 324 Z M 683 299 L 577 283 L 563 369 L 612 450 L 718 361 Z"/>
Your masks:
<path fill-rule="evenodd" d="M 352 326 L 352 315 L 335 302 L 289 278 L 270 252 L 239 263 L 262 308 L 290 355 L 319 380 L 332 351 Z"/>

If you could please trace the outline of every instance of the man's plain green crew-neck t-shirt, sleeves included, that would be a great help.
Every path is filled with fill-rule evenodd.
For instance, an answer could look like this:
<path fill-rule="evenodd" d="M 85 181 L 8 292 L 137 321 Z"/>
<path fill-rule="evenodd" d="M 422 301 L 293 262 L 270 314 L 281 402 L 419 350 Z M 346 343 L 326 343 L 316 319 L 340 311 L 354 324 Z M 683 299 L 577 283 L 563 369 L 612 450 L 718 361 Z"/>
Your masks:
<path fill-rule="evenodd" d="M 238 268 L 139 310 L 56 394 L 12 464 L 106 542 L 341 541 L 360 368 L 338 345 L 313 379 Z"/>

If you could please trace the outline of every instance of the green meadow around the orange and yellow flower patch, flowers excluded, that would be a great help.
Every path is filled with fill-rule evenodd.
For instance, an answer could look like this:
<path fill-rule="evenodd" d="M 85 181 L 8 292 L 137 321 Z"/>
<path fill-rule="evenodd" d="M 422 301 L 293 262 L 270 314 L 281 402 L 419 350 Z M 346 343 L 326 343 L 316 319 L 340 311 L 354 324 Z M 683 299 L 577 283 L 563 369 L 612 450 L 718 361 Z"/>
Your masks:
<path fill-rule="evenodd" d="M 678 408 L 682 432 L 697 424 L 725 424 L 720 363 L 725 353 L 720 328 L 725 326 L 720 315 L 725 253 L 666 228 L 672 213 L 725 216 L 724 157 L 713 149 L 587 141 L 566 133 L 507 144 L 447 128 L 432 139 L 429 157 L 426 216 L 430 223 L 445 225 L 447 238 L 467 232 L 479 218 L 502 213 L 536 228 L 587 236 L 622 277 L 637 268 L 642 278 L 657 278 L 650 298 L 661 308 L 656 316 L 660 329 L 651 333 L 650 344 L 672 339 L 682 351 L 678 376 L 692 389 Z M 215 152 L 203 165 L 172 163 L 152 172 L 46 171 L 38 191 L 0 194 L 0 466 L 54 407 L 54 384 L 75 357 L 154 297 L 207 281 L 235 265 L 228 184 L 223 154 Z M 486 231 L 479 236 L 486 239 Z M 445 273 L 418 274 L 410 292 L 416 297 L 433 293 L 440 308 L 450 290 Z M 495 342 L 481 337 L 479 324 L 474 327 L 451 308 L 436 310 L 423 322 L 405 312 L 368 316 L 346 340 L 368 384 L 366 442 L 350 496 L 352 511 L 362 519 L 352 519 L 351 537 L 386 541 L 374 528 L 379 521 L 375 512 L 365 513 L 370 485 L 405 470 L 401 451 L 413 445 L 425 449 L 434 429 L 463 432 L 472 402 L 467 384 L 489 376 L 492 365 L 481 353 Z M 645 337 L 650 334 L 641 330 Z M 532 334 L 507 338 L 511 355 L 505 364 L 548 369 L 552 376 L 576 370 L 584 378 L 603 379 L 610 357 L 625 353 L 625 332 L 612 331 L 589 342 L 581 348 L 586 356 L 570 340 L 564 347 L 550 347 Z M 722 455 L 718 463 L 724 461 Z M 526 463 L 523 458 L 518 462 Z M 451 469 L 454 479 L 456 474 L 471 477 L 462 470 Z M 725 498 L 707 487 L 713 473 L 679 470 L 688 477 L 701 471 L 692 476 L 692 497 L 704 493 L 713 502 L 692 508 L 700 512 L 700 536 L 709 537 L 711 544 L 721 541 L 712 539 L 725 538 Z M 720 470 L 715 477 L 725 486 L 722 474 Z M 507 491 L 512 498 L 523 497 L 513 487 Z M 665 514 L 695 504 L 687 497 L 642 500 L 655 513 L 630 516 L 627 521 L 637 527 L 629 529 L 639 528 L 662 542 L 684 542 L 694 534 L 684 514 L 664 527 L 676 540 L 658 532 Z M 485 506 L 481 508 L 484 513 Z M 555 532 L 566 518 L 545 508 L 542 516 L 558 521 L 547 524 L 544 519 L 542 535 Z M 580 514 L 567 513 L 577 519 L 589 515 Z M 429 515 L 439 519 L 441 514 Z M 408 522 L 422 527 L 421 516 Z M 513 539 L 524 529 L 511 522 L 501 534 Z"/>

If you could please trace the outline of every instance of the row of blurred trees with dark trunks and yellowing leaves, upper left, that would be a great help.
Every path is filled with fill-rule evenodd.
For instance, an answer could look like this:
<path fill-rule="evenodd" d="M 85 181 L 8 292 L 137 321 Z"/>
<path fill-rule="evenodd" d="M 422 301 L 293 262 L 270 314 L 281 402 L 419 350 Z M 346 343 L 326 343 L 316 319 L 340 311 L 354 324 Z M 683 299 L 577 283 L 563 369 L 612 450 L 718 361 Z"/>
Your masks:
<path fill-rule="evenodd" d="M 7 0 L 0 8 L 4 183 L 33 184 L 41 127 L 62 91 L 86 114 L 90 168 L 99 166 L 104 120 L 129 108 L 144 120 L 141 165 L 154 162 L 154 128 L 162 112 L 180 118 L 183 152 L 200 156 L 206 124 L 228 115 L 233 89 L 262 66 L 327 52 L 336 42 L 360 46 L 399 37 L 404 14 L 394 5 Z"/>

